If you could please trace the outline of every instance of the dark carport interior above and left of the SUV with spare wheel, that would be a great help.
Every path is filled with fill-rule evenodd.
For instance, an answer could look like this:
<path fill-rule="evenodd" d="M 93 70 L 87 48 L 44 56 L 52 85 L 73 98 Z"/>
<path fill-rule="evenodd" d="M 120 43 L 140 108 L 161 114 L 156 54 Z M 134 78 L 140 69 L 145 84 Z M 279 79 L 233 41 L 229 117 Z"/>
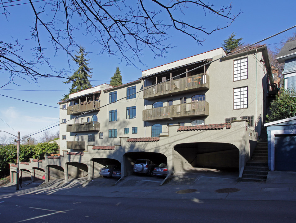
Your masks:
<path fill-rule="evenodd" d="M 137 159 L 148 159 L 153 163 L 159 165 L 161 163 L 168 163 L 167 157 L 162 153 L 157 152 L 128 152 L 123 155 L 123 166 L 121 169 L 122 176 L 133 174 L 133 165 Z M 123 173 L 124 170 L 124 173 Z M 123 175 L 124 174 L 124 175 Z"/>

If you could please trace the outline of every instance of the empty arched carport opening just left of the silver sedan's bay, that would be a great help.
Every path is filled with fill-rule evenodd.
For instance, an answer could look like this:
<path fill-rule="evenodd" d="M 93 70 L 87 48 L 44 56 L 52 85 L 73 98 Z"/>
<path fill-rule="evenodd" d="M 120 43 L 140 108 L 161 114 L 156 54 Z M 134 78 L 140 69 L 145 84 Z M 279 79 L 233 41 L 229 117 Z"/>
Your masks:
<path fill-rule="evenodd" d="M 66 174 L 65 180 L 86 177 L 88 175 L 87 164 L 78 162 L 68 162 L 65 164 Z"/>

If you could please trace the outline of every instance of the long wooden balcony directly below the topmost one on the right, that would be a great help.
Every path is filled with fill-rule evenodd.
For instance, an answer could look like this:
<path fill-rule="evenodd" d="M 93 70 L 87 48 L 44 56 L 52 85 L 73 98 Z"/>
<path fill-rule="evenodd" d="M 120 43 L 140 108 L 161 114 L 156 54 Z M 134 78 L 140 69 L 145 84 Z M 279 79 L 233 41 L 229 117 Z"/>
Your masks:
<path fill-rule="evenodd" d="M 209 103 L 198 101 L 143 110 L 143 121 L 208 115 Z"/>

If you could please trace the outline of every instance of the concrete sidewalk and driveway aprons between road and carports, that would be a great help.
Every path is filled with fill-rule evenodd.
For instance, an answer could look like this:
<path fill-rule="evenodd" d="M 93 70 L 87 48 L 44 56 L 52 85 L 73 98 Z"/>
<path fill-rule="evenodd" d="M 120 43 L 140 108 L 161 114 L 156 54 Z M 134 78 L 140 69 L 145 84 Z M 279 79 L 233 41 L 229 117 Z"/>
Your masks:
<path fill-rule="evenodd" d="M 23 182 L 16 191 L 15 184 L 0 187 L 0 197 L 7 194 L 56 194 L 77 196 L 204 199 L 226 200 L 296 200 L 296 172 L 269 171 L 267 181 L 238 182 L 236 173 L 212 171 L 178 172 L 160 186 L 161 178 L 128 176 L 114 185 L 116 179 L 102 177 L 87 180 Z"/>

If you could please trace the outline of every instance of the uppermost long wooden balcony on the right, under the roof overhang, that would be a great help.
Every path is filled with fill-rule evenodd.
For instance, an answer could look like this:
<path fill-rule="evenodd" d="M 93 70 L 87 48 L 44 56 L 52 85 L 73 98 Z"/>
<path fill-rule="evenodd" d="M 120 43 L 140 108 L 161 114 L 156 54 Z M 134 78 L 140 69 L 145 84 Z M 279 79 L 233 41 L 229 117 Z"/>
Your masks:
<path fill-rule="evenodd" d="M 144 99 L 160 98 L 166 95 L 180 94 L 183 91 L 196 91 L 209 89 L 210 78 L 207 74 L 196 74 L 176 80 L 166 81 L 153 87 L 146 86 L 143 92 Z M 149 88 L 150 87 L 150 88 Z"/>

